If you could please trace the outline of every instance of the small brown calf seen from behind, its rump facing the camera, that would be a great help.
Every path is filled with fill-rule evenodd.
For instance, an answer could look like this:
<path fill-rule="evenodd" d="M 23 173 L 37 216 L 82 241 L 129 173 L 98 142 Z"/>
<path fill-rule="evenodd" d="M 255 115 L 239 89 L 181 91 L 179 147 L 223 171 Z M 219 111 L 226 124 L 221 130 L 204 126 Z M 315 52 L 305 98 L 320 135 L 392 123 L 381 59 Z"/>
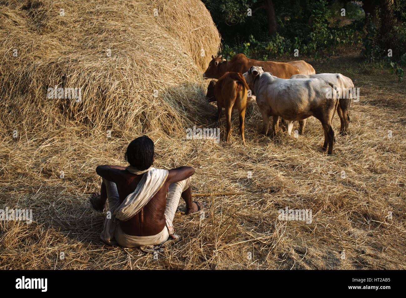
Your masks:
<path fill-rule="evenodd" d="M 234 72 L 226 72 L 217 82 L 210 81 L 207 87 L 207 101 L 217 101 L 218 120 L 220 120 L 222 108 L 224 107 L 226 110 L 226 141 L 228 141 L 231 131 L 231 111 L 232 109 L 238 109 L 242 143 L 245 145 L 244 118 L 248 90 L 248 84 L 242 74 Z"/>

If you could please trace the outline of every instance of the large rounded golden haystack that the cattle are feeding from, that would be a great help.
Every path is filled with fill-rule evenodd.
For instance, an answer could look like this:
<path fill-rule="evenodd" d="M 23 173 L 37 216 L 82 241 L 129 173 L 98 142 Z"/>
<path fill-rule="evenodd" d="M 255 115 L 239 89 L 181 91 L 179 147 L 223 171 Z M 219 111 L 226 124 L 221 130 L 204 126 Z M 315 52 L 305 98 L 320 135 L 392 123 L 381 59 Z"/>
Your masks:
<path fill-rule="evenodd" d="M 7 129 L 50 129 L 69 119 L 138 133 L 146 124 L 179 130 L 175 119 L 182 106 L 193 110 L 202 70 L 220 44 L 198 0 L 0 3 Z M 49 99 L 54 86 L 82 88 L 82 101 Z"/>

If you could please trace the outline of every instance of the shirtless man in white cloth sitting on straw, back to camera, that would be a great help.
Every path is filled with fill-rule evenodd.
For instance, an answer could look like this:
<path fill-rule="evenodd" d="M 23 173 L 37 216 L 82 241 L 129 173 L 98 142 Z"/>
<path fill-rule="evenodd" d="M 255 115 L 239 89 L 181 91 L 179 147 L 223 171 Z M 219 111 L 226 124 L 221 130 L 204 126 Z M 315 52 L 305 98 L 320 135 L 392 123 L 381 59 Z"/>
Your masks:
<path fill-rule="evenodd" d="M 110 210 L 100 238 L 129 248 L 162 244 L 175 232 L 172 220 L 180 197 L 186 202 L 186 214 L 199 212 L 203 207 L 192 202 L 190 176 L 194 169 L 155 169 L 154 144 L 146 135 L 128 145 L 125 158 L 129 167 L 96 168 L 102 187 L 100 193 L 92 195 L 91 203 L 103 211 L 108 200 Z"/>

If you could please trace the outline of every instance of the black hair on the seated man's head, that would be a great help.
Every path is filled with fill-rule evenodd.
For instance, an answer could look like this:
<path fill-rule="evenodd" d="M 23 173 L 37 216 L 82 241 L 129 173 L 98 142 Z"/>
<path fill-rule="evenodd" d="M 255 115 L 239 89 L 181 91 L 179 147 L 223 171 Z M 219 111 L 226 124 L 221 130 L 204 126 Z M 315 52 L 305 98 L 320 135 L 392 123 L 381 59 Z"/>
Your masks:
<path fill-rule="evenodd" d="M 131 141 L 125 152 L 125 159 L 128 163 L 140 171 L 148 169 L 152 165 L 153 156 L 153 141 L 146 135 Z"/>

